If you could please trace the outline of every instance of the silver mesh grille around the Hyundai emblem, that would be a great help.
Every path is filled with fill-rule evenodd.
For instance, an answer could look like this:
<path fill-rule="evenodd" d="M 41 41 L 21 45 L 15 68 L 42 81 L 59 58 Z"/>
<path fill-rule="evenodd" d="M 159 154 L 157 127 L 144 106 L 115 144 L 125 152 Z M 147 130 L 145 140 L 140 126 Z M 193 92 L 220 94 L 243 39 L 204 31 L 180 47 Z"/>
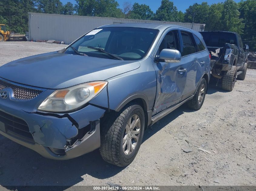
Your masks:
<path fill-rule="evenodd" d="M 4 88 L 12 88 L 14 97 L 17 100 L 31 100 L 43 92 L 42 90 L 25 88 L 22 86 L 10 84 L 6 81 L 0 80 L 0 91 Z"/>

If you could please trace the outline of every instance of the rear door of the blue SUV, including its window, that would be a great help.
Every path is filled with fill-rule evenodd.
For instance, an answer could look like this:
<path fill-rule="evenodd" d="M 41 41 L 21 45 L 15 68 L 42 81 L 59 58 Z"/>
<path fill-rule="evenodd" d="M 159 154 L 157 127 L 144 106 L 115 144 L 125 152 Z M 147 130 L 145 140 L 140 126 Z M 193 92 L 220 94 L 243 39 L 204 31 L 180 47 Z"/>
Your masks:
<path fill-rule="evenodd" d="M 184 63 L 187 73 L 187 81 L 182 97 L 182 100 L 185 100 L 194 94 L 204 71 L 205 60 L 201 51 L 198 50 L 197 43 L 191 31 L 185 29 L 180 30 L 180 36 L 182 42 L 181 62 Z"/>

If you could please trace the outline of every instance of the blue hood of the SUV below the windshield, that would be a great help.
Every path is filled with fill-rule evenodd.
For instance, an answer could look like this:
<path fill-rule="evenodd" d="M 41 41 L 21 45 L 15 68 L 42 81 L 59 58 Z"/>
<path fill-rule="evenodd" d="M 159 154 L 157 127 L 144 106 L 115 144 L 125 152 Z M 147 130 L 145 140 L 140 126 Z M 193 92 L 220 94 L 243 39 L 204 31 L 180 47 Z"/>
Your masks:
<path fill-rule="evenodd" d="M 39 88 L 61 89 L 106 80 L 139 67 L 138 61 L 52 52 L 9 62 L 0 67 L 0 77 Z"/>

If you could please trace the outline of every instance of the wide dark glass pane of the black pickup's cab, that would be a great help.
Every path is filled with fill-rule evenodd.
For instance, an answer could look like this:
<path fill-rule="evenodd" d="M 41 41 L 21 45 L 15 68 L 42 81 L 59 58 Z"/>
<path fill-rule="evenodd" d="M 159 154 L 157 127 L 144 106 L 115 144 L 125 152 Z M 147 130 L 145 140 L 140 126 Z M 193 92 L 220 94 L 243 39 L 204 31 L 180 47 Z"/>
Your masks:
<path fill-rule="evenodd" d="M 206 46 L 223 47 L 224 43 L 236 45 L 236 36 L 234 33 L 226 32 L 201 32 Z"/>

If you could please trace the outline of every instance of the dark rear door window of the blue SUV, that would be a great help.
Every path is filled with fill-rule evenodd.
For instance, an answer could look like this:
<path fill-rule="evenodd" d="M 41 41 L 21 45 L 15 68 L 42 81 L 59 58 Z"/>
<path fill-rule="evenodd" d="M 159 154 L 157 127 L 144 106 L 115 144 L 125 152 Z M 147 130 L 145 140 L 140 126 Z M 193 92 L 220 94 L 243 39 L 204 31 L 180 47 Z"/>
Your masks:
<path fill-rule="evenodd" d="M 196 53 L 196 46 L 195 46 L 192 33 L 181 31 L 181 37 L 183 42 L 182 44 L 183 49 L 181 49 L 181 56 L 186 56 L 189 54 Z"/>

